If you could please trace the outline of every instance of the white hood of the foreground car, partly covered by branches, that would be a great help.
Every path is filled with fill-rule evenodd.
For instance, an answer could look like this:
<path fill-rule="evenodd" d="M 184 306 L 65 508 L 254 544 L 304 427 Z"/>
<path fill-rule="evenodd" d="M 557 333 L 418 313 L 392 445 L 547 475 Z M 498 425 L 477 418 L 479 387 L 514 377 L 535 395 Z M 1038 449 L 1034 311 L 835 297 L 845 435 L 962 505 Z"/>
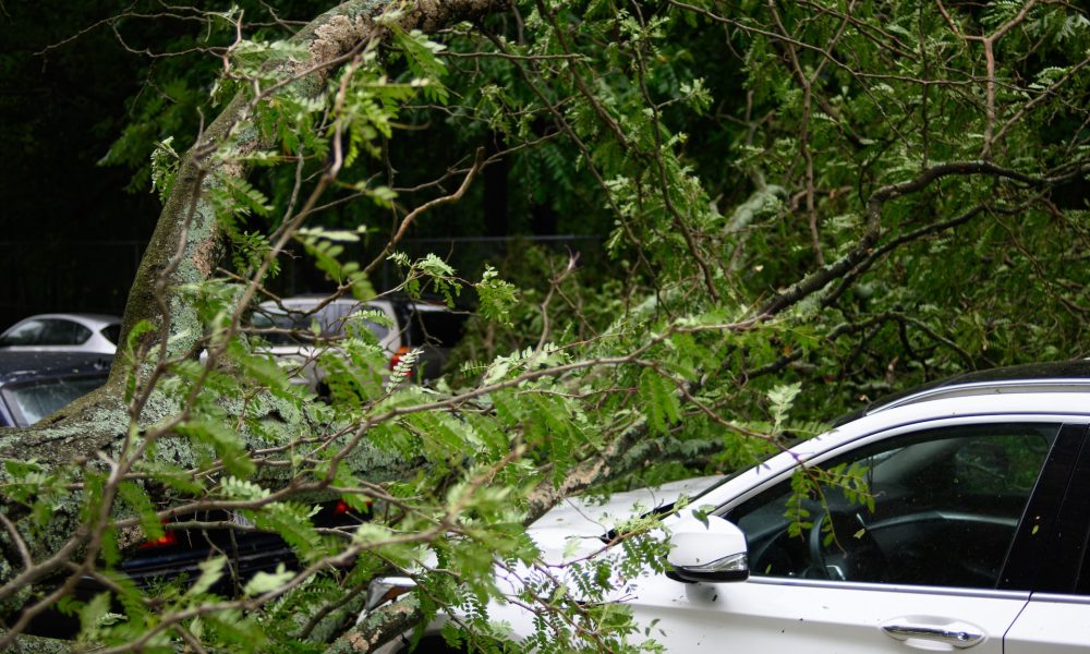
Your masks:
<path fill-rule="evenodd" d="M 598 549 L 598 540 L 617 524 L 638 518 L 652 509 L 693 497 L 722 476 L 693 477 L 662 486 L 615 493 L 604 502 L 592 497 L 572 497 L 560 501 L 534 522 L 528 533 L 550 562 L 570 559 L 586 550 Z M 572 538 L 584 540 L 573 546 Z"/>

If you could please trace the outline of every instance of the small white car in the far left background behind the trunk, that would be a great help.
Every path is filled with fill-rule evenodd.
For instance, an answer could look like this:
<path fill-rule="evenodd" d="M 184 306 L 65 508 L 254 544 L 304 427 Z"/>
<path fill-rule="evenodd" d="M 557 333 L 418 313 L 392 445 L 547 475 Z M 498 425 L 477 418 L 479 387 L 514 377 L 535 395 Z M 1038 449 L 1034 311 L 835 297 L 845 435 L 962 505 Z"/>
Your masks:
<path fill-rule="evenodd" d="M 104 314 L 57 313 L 23 318 L 0 334 L 0 349 L 113 354 L 121 318 Z"/>

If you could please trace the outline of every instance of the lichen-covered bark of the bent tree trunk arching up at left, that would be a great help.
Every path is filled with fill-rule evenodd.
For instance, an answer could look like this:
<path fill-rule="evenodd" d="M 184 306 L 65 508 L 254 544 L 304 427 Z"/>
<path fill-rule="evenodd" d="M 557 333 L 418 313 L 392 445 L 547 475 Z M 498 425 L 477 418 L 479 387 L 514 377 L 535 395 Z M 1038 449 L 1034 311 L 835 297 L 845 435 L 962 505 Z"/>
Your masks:
<path fill-rule="evenodd" d="M 351 0 L 326 12 L 294 37 L 306 44 L 312 53 L 307 61 L 284 62 L 294 72 L 313 71 L 301 77 L 298 87 L 319 93 L 330 74 L 325 62 L 335 61 L 362 43 L 380 38 L 384 28 L 372 19 L 390 7 L 387 0 Z M 435 31 L 459 21 L 499 11 L 506 0 L 422 0 L 410 4 L 401 16 L 405 29 Z M 247 95 L 234 98 L 207 126 L 194 152 L 222 141 L 229 133 L 242 136 L 244 147 L 259 149 L 263 145 L 250 126 Z M 195 311 L 187 306 L 179 288 L 208 279 L 223 252 L 222 233 L 211 208 L 202 197 L 202 185 L 208 184 L 211 164 L 197 160 L 194 153 L 185 156 L 175 177 L 170 197 L 164 206 L 148 247 L 141 262 L 124 312 L 123 335 L 140 320 L 159 325 L 164 320 L 159 300 L 170 307 L 170 353 L 193 352 L 202 335 Z M 219 171 L 242 177 L 241 167 Z M 204 180 L 204 182 L 201 182 Z M 201 185 L 198 185 L 201 182 Z M 192 216 L 192 218 L 190 218 Z M 181 251 L 173 272 L 161 290 L 164 270 Z M 27 452 L 45 463 L 66 463 L 94 458 L 98 450 L 109 450 L 111 441 L 124 436 L 129 419 L 124 411 L 123 380 L 129 371 L 116 362 L 110 383 L 57 415 L 25 429 L 0 429 L 0 459 L 25 459 Z M 142 422 L 153 423 L 169 415 L 168 403 L 155 402 L 145 411 Z"/>

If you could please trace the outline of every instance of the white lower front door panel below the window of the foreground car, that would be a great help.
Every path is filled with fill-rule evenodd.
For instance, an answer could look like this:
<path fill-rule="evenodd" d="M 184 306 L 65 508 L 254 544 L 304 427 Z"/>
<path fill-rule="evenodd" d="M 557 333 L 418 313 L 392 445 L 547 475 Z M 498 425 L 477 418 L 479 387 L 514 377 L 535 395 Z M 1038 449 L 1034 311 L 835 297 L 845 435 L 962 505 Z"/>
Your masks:
<path fill-rule="evenodd" d="M 801 580 L 800 580 L 801 581 Z M 786 582 L 786 583 L 785 583 Z M 682 583 L 658 576 L 628 604 L 637 621 L 671 652 L 905 652 L 882 627 L 971 626 L 984 640 L 972 651 L 1003 652 L 1003 634 L 1029 593 L 952 594 L 948 589 L 880 584 L 772 582 Z"/>

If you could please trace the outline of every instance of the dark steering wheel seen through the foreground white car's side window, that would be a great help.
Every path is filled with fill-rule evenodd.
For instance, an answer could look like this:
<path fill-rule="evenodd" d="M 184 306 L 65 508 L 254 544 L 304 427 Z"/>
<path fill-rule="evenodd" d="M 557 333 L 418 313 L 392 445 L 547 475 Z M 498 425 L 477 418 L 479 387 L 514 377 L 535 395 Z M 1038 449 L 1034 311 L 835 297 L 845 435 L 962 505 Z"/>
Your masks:
<path fill-rule="evenodd" d="M 829 529 L 833 540 L 826 545 Z M 885 555 L 856 512 L 826 511 L 810 528 L 808 545 L 811 577 L 834 581 L 886 580 Z"/>

